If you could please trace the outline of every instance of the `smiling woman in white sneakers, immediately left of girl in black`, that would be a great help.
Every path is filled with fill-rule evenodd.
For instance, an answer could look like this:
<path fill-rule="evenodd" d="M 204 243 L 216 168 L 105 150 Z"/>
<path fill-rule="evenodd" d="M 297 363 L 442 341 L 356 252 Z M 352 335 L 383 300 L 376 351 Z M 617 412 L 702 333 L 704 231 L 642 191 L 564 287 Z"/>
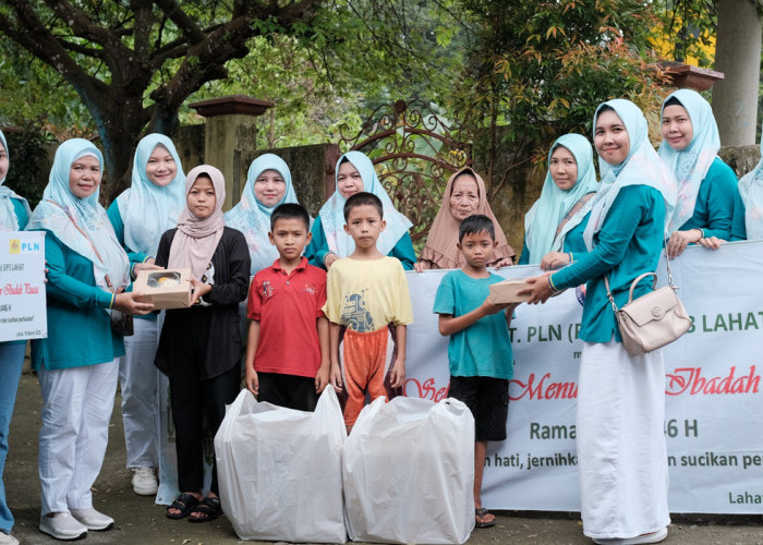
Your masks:
<path fill-rule="evenodd" d="M 132 185 L 119 195 L 108 215 L 117 239 L 128 252 L 135 252 L 143 268 L 158 268 L 154 256 L 161 234 L 174 227 L 185 207 L 185 174 L 172 141 L 164 134 L 149 134 L 135 150 Z M 157 493 L 159 485 L 159 392 L 167 391 L 161 374 L 154 366 L 160 325 L 155 314 L 134 323 L 135 332 L 124 339 L 119 383 L 128 469 L 132 470 L 133 492 L 142 496 Z"/>

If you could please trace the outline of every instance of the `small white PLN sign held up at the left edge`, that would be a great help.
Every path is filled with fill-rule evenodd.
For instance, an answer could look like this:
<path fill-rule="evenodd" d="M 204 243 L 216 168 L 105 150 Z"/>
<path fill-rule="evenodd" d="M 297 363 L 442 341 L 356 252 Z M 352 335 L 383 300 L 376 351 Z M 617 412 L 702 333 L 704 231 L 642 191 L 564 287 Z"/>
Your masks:
<path fill-rule="evenodd" d="M 0 231 L 0 341 L 47 336 L 45 233 Z"/>

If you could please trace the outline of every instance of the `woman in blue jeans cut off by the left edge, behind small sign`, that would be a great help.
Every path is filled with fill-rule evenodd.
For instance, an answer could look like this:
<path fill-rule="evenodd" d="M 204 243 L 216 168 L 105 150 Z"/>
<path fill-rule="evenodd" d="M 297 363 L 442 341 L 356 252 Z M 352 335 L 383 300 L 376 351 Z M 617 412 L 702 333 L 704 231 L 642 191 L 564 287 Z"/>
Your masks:
<path fill-rule="evenodd" d="M 29 205 L 16 195 L 5 183 L 9 167 L 9 152 L 5 135 L 0 131 L 0 230 L 22 231 L 29 219 Z M 13 405 L 24 365 L 26 341 L 0 342 L 0 543 L 19 543 L 11 535 L 13 514 L 5 501 L 5 486 L 2 472 L 8 457 L 8 432 L 11 426 Z"/>

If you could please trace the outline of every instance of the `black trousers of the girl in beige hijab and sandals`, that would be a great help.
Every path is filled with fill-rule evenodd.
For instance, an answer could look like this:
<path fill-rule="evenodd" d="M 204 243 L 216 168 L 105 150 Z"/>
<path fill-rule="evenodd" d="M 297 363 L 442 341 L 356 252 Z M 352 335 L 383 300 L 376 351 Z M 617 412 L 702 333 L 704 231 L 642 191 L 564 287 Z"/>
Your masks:
<path fill-rule="evenodd" d="M 170 378 L 180 492 L 202 491 L 204 417 L 206 416 L 214 437 L 226 415 L 226 404 L 233 402 L 241 387 L 241 368 L 238 363 L 222 375 L 202 380 L 199 362 L 193 356 L 192 344 L 193 342 L 185 346 L 178 343 L 178 350 L 187 350 L 189 353 L 185 355 L 189 364 L 182 371 L 175 370 Z M 219 494 L 216 465 L 213 465 L 210 491 Z"/>

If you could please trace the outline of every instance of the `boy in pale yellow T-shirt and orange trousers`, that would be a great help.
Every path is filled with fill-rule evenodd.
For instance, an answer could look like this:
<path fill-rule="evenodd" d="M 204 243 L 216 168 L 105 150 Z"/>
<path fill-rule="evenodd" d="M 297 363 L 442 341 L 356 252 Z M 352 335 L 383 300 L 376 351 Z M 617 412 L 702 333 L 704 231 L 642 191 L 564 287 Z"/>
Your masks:
<path fill-rule="evenodd" d="M 413 322 L 413 311 L 402 265 L 376 247 L 386 227 L 382 201 L 372 193 L 355 193 L 344 203 L 343 211 L 344 230 L 352 237 L 355 250 L 331 265 L 324 312 L 330 322 L 331 384 L 338 391 L 347 388 L 344 424 L 349 432 L 363 409 L 366 393 L 372 400 L 389 399 L 391 390 L 402 387 L 405 326 Z M 390 330 L 395 347 L 387 366 Z"/>

